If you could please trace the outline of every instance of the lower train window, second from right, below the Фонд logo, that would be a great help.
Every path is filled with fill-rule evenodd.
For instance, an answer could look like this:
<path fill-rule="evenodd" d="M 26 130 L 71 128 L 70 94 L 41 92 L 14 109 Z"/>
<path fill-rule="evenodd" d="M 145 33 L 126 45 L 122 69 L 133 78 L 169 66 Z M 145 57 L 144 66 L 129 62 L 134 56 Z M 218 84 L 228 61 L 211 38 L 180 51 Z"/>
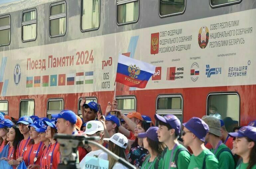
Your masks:
<path fill-rule="evenodd" d="M 159 95 L 156 100 L 156 114 L 176 115 L 182 122 L 183 98 L 181 95 Z"/>

